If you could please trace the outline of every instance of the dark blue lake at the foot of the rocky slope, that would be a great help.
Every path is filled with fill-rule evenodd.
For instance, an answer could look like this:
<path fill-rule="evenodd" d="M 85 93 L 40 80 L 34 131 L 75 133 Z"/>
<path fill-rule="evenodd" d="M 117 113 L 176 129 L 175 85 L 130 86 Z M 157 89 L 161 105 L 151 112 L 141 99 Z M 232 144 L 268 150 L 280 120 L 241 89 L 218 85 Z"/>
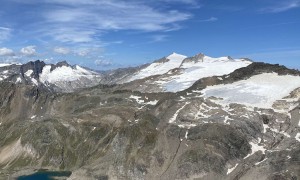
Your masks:
<path fill-rule="evenodd" d="M 53 180 L 55 177 L 70 177 L 70 171 L 38 171 L 27 176 L 20 176 L 17 180 Z"/>

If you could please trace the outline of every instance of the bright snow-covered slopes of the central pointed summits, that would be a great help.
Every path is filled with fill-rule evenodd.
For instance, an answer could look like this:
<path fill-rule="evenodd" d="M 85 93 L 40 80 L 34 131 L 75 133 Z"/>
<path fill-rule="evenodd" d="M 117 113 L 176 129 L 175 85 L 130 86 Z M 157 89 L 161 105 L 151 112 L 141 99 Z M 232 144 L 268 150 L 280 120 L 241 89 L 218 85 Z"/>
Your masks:
<path fill-rule="evenodd" d="M 230 74 L 251 63 L 246 59 L 212 58 L 203 54 L 187 58 L 184 55 L 173 53 L 165 60 L 154 62 L 141 69 L 127 82 L 159 75 L 148 79 L 146 84 L 158 85 L 162 91 L 178 92 L 189 88 L 201 78 Z"/>

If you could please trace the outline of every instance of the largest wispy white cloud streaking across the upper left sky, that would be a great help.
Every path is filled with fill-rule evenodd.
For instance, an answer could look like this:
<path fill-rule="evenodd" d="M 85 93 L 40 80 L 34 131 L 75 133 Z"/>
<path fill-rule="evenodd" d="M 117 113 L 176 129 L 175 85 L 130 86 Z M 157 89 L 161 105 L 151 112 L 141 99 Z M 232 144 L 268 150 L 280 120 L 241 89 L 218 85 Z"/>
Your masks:
<path fill-rule="evenodd" d="M 161 1 L 168 3 L 169 0 Z M 196 0 L 175 1 L 197 3 Z M 181 22 L 192 18 L 188 12 L 159 9 L 147 1 L 136 0 L 28 0 L 26 3 L 47 5 L 37 10 L 41 19 L 33 23 L 31 29 L 62 43 L 99 44 L 103 33 L 110 31 L 175 31 L 181 29 Z"/>

